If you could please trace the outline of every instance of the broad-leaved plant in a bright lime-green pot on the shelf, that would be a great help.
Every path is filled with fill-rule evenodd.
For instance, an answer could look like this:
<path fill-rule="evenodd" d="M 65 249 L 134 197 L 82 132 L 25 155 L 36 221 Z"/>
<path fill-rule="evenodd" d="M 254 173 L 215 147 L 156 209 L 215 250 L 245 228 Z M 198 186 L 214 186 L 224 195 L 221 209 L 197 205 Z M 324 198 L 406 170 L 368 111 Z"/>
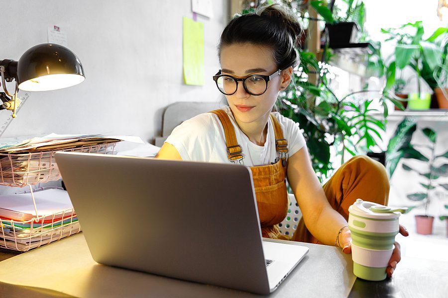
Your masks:
<path fill-rule="evenodd" d="M 417 92 L 409 96 L 409 109 L 428 109 L 431 105 L 431 95 L 422 91 L 422 81 L 433 90 L 439 86 L 438 78 L 447 66 L 448 28 L 438 28 L 425 40 L 421 21 L 381 31 L 389 35 L 386 41 L 394 40 L 397 43 L 393 59 L 396 67 L 403 70 L 409 66 L 415 72 Z M 410 31 L 413 33 L 409 33 Z"/>

